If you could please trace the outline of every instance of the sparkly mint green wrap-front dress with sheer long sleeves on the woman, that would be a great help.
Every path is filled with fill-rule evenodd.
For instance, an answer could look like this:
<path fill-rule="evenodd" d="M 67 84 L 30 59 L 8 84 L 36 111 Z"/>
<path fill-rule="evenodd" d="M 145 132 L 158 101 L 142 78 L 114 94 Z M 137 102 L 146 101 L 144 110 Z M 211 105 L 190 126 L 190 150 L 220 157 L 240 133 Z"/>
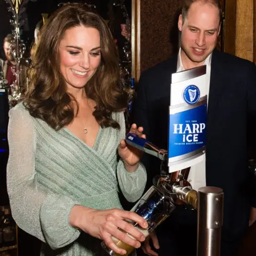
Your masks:
<path fill-rule="evenodd" d="M 100 128 L 93 148 L 67 128 L 55 131 L 31 117 L 22 103 L 9 116 L 7 190 L 17 225 L 43 241 L 41 255 L 106 255 L 100 239 L 71 227 L 68 219 L 75 204 L 122 209 L 121 191 L 130 202 L 142 196 L 145 167 L 129 173 L 118 161 L 123 113 L 113 113 L 121 130 Z"/>

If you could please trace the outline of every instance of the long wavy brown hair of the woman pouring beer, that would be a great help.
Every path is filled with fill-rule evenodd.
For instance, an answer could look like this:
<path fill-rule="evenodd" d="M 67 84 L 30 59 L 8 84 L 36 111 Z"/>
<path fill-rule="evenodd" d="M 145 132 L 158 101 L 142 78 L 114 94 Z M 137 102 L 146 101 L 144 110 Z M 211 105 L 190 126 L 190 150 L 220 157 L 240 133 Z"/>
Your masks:
<path fill-rule="evenodd" d="M 101 62 L 84 89 L 86 96 L 97 103 L 93 115 L 99 125 L 119 129 L 111 114 L 126 108 L 127 92 L 119 83 L 114 41 L 105 21 L 81 3 L 63 5 L 43 26 L 28 73 L 29 86 L 23 104 L 31 116 L 43 119 L 55 130 L 73 121 L 77 102 L 66 91 L 60 72 L 59 45 L 65 31 L 77 26 L 99 30 Z"/>

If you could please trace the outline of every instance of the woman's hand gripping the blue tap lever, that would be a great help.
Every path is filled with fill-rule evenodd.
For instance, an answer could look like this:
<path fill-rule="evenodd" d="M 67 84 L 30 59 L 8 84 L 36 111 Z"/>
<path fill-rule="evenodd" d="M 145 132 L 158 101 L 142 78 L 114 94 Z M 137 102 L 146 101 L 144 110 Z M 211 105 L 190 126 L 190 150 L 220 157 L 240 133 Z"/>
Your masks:
<path fill-rule="evenodd" d="M 130 132 L 136 133 L 139 137 L 146 139 L 146 135 L 142 134 L 143 127 L 138 127 L 137 129 L 137 125 L 132 124 Z M 134 172 L 138 168 L 143 152 L 137 148 L 127 145 L 125 140 L 121 140 L 118 146 L 118 154 L 123 159 L 125 169 L 129 172 Z"/>

